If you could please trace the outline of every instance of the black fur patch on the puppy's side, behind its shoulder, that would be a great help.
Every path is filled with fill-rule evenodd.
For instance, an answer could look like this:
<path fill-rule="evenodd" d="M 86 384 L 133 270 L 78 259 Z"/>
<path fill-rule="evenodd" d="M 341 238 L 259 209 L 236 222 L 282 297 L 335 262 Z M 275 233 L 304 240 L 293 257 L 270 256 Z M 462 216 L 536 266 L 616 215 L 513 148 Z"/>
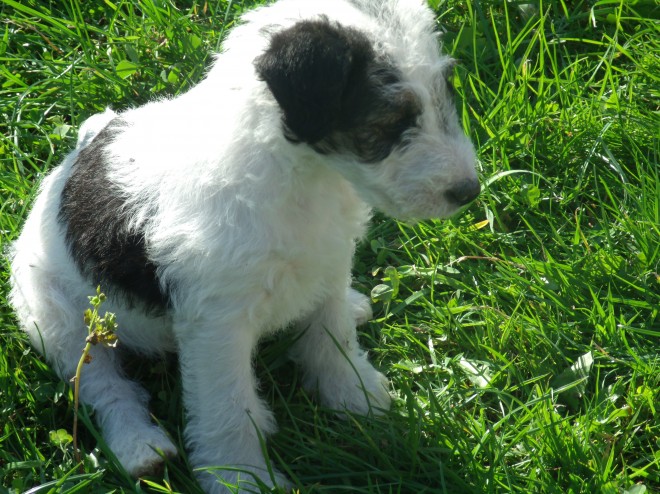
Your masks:
<path fill-rule="evenodd" d="M 125 126 L 115 118 L 79 152 L 58 218 L 73 259 L 95 286 L 161 312 L 170 300 L 147 256 L 144 232 L 129 228 L 126 200 L 107 175 L 107 147 Z"/>

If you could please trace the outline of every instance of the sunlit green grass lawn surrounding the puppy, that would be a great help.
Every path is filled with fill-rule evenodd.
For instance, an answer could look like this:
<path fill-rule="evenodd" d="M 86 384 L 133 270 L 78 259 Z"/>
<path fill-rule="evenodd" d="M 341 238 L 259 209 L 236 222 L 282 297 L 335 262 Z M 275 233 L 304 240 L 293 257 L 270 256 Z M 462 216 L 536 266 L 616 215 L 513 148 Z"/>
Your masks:
<path fill-rule="evenodd" d="M 82 120 L 190 87 L 253 3 L 0 0 L 3 245 Z M 660 492 L 660 12 L 433 3 L 488 187 L 449 221 L 377 217 L 358 250 L 390 414 L 337 419 L 301 391 L 287 337 L 264 345 L 269 454 L 301 492 Z M 7 269 L 0 492 L 198 492 L 183 447 L 136 482 L 92 426 L 77 468 L 71 392 L 16 328 Z M 176 362 L 132 370 L 181 443 Z"/>

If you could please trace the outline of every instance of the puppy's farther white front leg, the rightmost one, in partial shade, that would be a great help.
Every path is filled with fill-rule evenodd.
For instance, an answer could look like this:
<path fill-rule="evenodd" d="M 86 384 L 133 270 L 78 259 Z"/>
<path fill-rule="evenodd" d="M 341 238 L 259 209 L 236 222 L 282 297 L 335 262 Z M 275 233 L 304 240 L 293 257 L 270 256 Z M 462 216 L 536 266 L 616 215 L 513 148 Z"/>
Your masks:
<path fill-rule="evenodd" d="M 369 363 L 357 341 L 356 323 L 370 314 L 365 297 L 349 288 L 297 324 L 301 335 L 291 357 L 303 368 L 304 386 L 318 390 L 325 406 L 362 415 L 390 407 L 387 378 Z"/>

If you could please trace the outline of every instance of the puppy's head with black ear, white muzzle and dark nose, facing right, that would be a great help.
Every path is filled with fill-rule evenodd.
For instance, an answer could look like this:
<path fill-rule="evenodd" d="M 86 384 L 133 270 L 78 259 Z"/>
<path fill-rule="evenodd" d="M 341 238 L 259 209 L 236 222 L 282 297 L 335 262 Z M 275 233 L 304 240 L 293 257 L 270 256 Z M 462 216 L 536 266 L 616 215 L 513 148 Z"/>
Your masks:
<path fill-rule="evenodd" d="M 369 204 L 446 217 L 480 191 L 448 81 L 454 63 L 437 52 L 401 62 L 403 46 L 386 45 L 324 18 L 300 21 L 272 36 L 255 67 L 285 137 L 324 155 Z"/>

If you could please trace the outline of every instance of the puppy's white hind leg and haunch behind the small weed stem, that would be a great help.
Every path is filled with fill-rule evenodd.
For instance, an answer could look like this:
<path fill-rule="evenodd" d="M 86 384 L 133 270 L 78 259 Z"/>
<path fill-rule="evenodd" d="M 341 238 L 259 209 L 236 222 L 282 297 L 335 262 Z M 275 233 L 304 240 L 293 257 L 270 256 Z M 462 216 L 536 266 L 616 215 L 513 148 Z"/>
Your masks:
<path fill-rule="evenodd" d="M 84 302 L 76 304 L 71 298 L 86 301 L 86 296 L 64 295 L 61 286 L 51 277 L 41 276 L 34 265 L 27 271 L 16 264 L 14 267 L 11 297 L 18 319 L 34 347 L 60 378 L 70 382 L 87 335 Z M 67 288 L 72 286 L 75 284 Z M 118 318 L 121 320 L 121 315 Z M 124 376 L 117 349 L 95 346 L 90 355 L 91 362 L 81 373 L 80 401 L 95 410 L 106 443 L 128 473 L 137 477 L 157 470 L 163 461 L 157 451 L 174 456 L 176 447 L 151 422 L 146 391 Z"/>

